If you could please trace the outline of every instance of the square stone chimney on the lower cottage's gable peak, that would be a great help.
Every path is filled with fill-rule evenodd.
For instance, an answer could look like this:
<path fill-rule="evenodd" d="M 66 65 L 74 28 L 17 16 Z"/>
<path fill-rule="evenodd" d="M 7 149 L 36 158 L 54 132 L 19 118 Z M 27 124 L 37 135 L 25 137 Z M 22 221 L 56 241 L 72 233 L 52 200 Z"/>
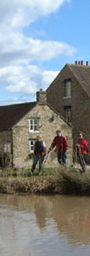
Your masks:
<path fill-rule="evenodd" d="M 43 91 L 43 89 L 40 89 L 39 92 L 36 92 L 37 96 L 37 102 L 40 105 L 45 105 L 47 104 L 47 94 L 46 92 Z"/>

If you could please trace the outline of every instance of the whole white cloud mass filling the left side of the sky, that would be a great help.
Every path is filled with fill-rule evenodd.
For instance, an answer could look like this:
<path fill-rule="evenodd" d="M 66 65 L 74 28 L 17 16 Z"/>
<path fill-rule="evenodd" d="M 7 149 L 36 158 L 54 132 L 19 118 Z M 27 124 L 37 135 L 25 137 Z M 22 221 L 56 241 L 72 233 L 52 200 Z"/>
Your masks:
<path fill-rule="evenodd" d="M 38 40 L 25 36 L 23 28 L 38 18 L 55 13 L 70 0 L 4 0 L 0 3 L 0 85 L 5 92 L 34 95 L 47 88 L 58 71 L 32 65 L 74 55 L 74 47 L 65 42 Z"/>

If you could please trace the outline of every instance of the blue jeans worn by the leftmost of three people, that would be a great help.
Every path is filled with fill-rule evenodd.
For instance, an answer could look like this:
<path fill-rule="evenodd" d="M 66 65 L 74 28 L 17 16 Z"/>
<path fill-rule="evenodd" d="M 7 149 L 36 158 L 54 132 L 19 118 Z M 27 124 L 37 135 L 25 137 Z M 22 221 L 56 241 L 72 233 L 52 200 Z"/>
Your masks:
<path fill-rule="evenodd" d="M 32 165 L 32 171 L 34 171 L 36 165 L 38 164 L 38 161 L 39 161 L 39 172 L 41 172 L 41 166 L 44 161 L 44 156 L 36 156 L 36 155 L 34 155 L 34 163 Z"/>

